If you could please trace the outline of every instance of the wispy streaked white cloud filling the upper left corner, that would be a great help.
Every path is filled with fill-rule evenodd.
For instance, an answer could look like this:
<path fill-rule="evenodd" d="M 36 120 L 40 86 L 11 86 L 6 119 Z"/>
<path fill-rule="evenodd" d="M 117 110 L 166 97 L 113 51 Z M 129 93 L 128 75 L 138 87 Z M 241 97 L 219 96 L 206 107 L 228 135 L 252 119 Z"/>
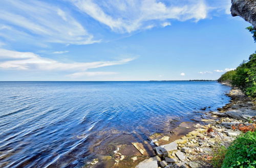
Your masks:
<path fill-rule="evenodd" d="M 23 34 L 26 38 L 51 43 L 91 44 L 100 41 L 94 40 L 94 36 L 69 12 L 36 0 L 1 1 L 1 20 L 6 24 L 6 33 L 0 36 L 7 40 L 16 34 Z"/>

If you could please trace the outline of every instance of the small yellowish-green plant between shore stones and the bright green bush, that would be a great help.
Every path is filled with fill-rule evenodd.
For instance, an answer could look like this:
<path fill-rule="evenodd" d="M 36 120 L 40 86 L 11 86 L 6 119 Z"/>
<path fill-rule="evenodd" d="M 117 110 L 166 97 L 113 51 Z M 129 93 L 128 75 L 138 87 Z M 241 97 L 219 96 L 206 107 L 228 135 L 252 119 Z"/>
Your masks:
<path fill-rule="evenodd" d="M 227 148 L 222 145 L 217 145 L 213 150 L 212 150 L 212 159 L 211 159 L 211 165 L 219 168 L 221 167 L 223 160 L 225 158 L 225 154 L 227 152 Z"/>

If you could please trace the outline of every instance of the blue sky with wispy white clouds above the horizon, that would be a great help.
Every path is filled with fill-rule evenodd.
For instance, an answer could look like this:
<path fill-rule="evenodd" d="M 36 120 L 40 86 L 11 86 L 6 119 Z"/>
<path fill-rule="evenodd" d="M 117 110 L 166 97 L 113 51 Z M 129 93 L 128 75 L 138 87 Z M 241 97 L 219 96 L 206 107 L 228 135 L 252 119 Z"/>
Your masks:
<path fill-rule="evenodd" d="M 1 0 L 1 81 L 218 79 L 256 50 L 230 0 Z"/>

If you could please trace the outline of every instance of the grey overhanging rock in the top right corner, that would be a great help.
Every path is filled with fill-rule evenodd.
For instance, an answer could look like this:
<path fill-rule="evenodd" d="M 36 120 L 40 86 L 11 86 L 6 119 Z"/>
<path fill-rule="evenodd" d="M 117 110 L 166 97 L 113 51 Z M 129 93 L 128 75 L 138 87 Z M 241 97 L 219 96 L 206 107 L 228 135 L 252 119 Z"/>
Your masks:
<path fill-rule="evenodd" d="M 256 28 L 256 0 L 231 0 L 231 15 L 241 16 Z"/>

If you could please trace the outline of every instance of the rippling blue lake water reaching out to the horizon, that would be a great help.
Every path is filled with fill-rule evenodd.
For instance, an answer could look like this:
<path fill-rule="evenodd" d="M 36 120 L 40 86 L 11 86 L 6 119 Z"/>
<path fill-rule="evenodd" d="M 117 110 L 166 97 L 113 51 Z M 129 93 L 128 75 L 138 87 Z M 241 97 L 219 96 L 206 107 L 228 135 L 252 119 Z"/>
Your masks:
<path fill-rule="evenodd" d="M 167 118 L 223 106 L 229 90 L 215 81 L 0 82 L 0 167 L 79 167 L 106 133 L 159 131 Z"/>

